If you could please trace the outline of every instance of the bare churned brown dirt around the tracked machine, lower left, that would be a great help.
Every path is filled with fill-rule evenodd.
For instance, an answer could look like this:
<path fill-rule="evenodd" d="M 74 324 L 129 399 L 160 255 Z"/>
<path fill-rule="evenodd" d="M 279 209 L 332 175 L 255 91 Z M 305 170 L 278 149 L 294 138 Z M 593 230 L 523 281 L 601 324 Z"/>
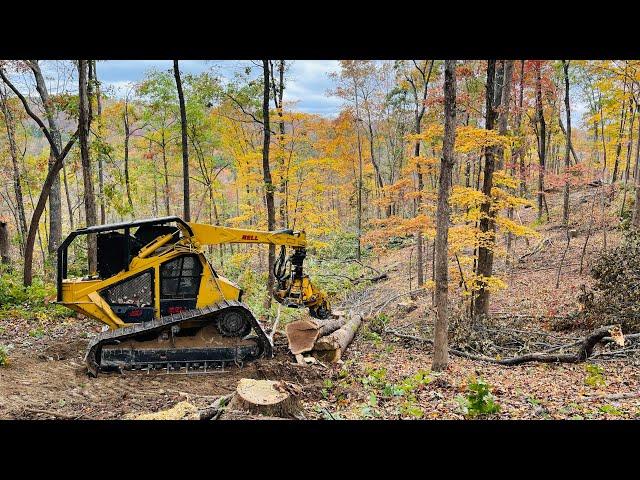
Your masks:
<path fill-rule="evenodd" d="M 28 335 L 28 323 L 24 326 L 18 335 L 12 332 L 11 363 L 0 369 L 0 419 L 118 419 L 164 410 L 184 400 L 204 408 L 233 392 L 240 378 L 284 379 L 311 391 L 314 377 L 319 377 L 313 368 L 294 365 L 283 354 L 284 345 L 279 345 L 275 358 L 241 369 L 207 374 L 101 373 L 92 378 L 83 362 L 88 343 L 84 333 L 95 330 L 95 323 L 74 319 L 40 339 Z M 63 335 L 69 338 L 60 338 Z M 7 332 L 3 342 L 6 336 Z"/>

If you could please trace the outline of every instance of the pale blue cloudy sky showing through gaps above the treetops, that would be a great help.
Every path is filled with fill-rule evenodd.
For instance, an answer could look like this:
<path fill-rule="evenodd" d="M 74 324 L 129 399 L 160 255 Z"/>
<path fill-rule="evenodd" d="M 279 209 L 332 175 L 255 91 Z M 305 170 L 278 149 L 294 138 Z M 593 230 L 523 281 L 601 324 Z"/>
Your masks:
<path fill-rule="evenodd" d="M 180 60 L 180 71 L 200 73 L 214 71 L 231 78 L 235 72 L 251 66 L 249 61 L 232 60 Z M 131 82 L 142 80 L 147 70 L 171 70 L 172 60 L 106 60 L 98 62 L 98 78 L 114 93 L 123 92 Z M 257 67 L 254 67 L 257 68 Z M 296 108 L 306 113 L 335 116 L 342 101 L 328 93 L 333 88 L 329 73 L 337 71 L 337 60 L 295 60 L 287 74 L 285 100 L 296 102 Z M 257 73 L 257 72 L 256 72 Z"/>

